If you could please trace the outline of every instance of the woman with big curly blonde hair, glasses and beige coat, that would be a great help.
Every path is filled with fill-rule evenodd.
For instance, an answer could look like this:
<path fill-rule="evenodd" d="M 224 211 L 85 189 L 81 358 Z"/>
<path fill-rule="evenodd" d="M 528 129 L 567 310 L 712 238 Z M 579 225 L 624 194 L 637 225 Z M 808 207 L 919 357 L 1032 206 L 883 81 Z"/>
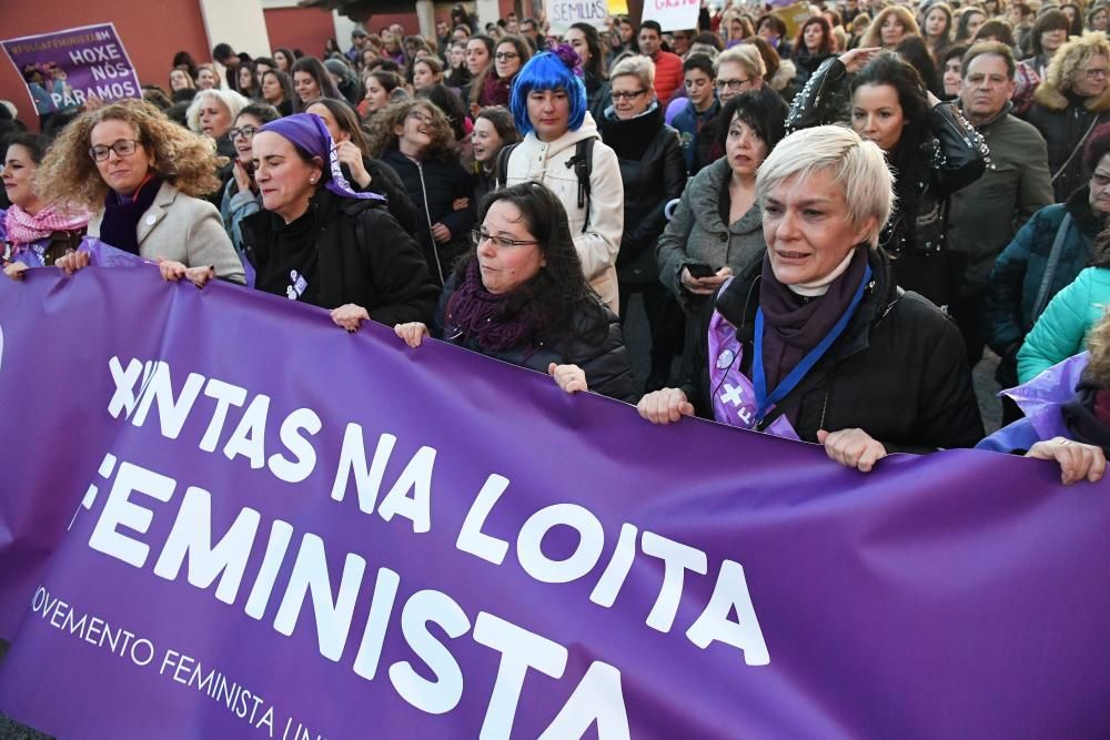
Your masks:
<path fill-rule="evenodd" d="M 158 262 L 165 280 L 242 283 L 220 212 L 201 200 L 220 186 L 219 164 L 210 141 L 150 103 L 120 100 L 62 130 L 36 187 L 47 202 L 89 209 L 89 236 Z M 74 252 L 56 264 L 70 274 L 88 265 L 89 255 Z"/>

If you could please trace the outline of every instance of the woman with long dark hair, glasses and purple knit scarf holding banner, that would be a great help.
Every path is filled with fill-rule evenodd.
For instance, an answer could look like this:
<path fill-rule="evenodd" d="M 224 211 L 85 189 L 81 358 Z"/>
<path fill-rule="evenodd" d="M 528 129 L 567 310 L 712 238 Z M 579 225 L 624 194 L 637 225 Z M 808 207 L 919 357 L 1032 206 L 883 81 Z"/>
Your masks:
<path fill-rule="evenodd" d="M 398 323 L 398 337 L 418 347 L 432 335 L 546 373 L 567 393 L 636 398 L 620 323 L 583 277 L 558 196 L 536 182 L 494 191 L 473 239 L 431 331 Z"/>

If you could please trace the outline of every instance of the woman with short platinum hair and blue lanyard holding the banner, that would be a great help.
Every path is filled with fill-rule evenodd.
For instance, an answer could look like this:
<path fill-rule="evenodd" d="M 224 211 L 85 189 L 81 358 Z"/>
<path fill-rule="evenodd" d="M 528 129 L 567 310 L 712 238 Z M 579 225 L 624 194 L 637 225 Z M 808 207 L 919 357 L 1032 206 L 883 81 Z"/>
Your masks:
<path fill-rule="evenodd" d="M 667 424 L 697 404 L 865 473 L 888 453 L 975 445 L 960 333 L 898 288 L 877 249 L 894 201 L 882 151 L 841 126 L 800 131 L 763 163 L 756 191 L 764 259 L 717 293 L 684 387 L 644 396 L 640 415 Z"/>

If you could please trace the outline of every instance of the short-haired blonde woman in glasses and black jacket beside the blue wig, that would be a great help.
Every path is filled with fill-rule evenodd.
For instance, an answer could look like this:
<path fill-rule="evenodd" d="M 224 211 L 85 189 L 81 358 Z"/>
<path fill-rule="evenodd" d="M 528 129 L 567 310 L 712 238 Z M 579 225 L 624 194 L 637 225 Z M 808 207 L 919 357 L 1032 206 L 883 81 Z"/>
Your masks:
<path fill-rule="evenodd" d="M 602 141 L 613 148 L 624 183 L 624 233 L 617 253 L 620 315 L 639 293 L 650 330 L 652 371 L 647 389 L 670 375 L 682 352 L 682 311 L 659 282 L 655 246 L 667 225 L 666 204 L 686 186 L 686 160 L 678 131 L 663 122 L 655 95 L 655 64 L 648 57 L 617 62 L 609 78 L 613 103 L 601 121 Z"/>

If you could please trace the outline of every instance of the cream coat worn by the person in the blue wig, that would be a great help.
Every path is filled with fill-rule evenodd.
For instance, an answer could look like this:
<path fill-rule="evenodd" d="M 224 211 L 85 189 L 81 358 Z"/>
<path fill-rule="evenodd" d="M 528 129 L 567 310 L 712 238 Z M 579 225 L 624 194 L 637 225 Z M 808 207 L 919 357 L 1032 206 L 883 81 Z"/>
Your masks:
<path fill-rule="evenodd" d="M 586 209 L 578 207 L 578 176 L 573 168 L 567 168 L 567 161 L 574 156 L 578 141 L 589 136 L 597 138 L 597 142 L 589 171 L 589 223 L 586 224 Z M 563 202 L 582 272 L 605 305 L 617 313 L 620 304 L 616 264 L 624 233 L 624 182 L 617 155 L 602 143 L 589 113 L 577 131 L 568 131 L 551 143 L 539 141 L 531 132 L 513 150 L 507 184 L 529 180 L 547 185 Z"/>

